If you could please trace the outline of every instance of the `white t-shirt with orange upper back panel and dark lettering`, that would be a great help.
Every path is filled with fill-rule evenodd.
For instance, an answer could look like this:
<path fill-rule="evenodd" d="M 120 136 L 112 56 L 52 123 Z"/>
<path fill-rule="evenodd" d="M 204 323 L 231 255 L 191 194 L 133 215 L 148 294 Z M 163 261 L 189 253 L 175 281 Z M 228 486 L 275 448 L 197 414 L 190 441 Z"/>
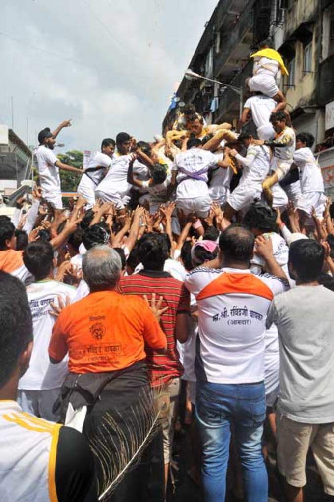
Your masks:
<path fill-rule="evenodd" d="M 229 268 L 194 269 L 184 284 L 199 312 L 197 379 L 217 384 L 264 380 L 267 312 L 287 284 L 269 274 Z"/>

